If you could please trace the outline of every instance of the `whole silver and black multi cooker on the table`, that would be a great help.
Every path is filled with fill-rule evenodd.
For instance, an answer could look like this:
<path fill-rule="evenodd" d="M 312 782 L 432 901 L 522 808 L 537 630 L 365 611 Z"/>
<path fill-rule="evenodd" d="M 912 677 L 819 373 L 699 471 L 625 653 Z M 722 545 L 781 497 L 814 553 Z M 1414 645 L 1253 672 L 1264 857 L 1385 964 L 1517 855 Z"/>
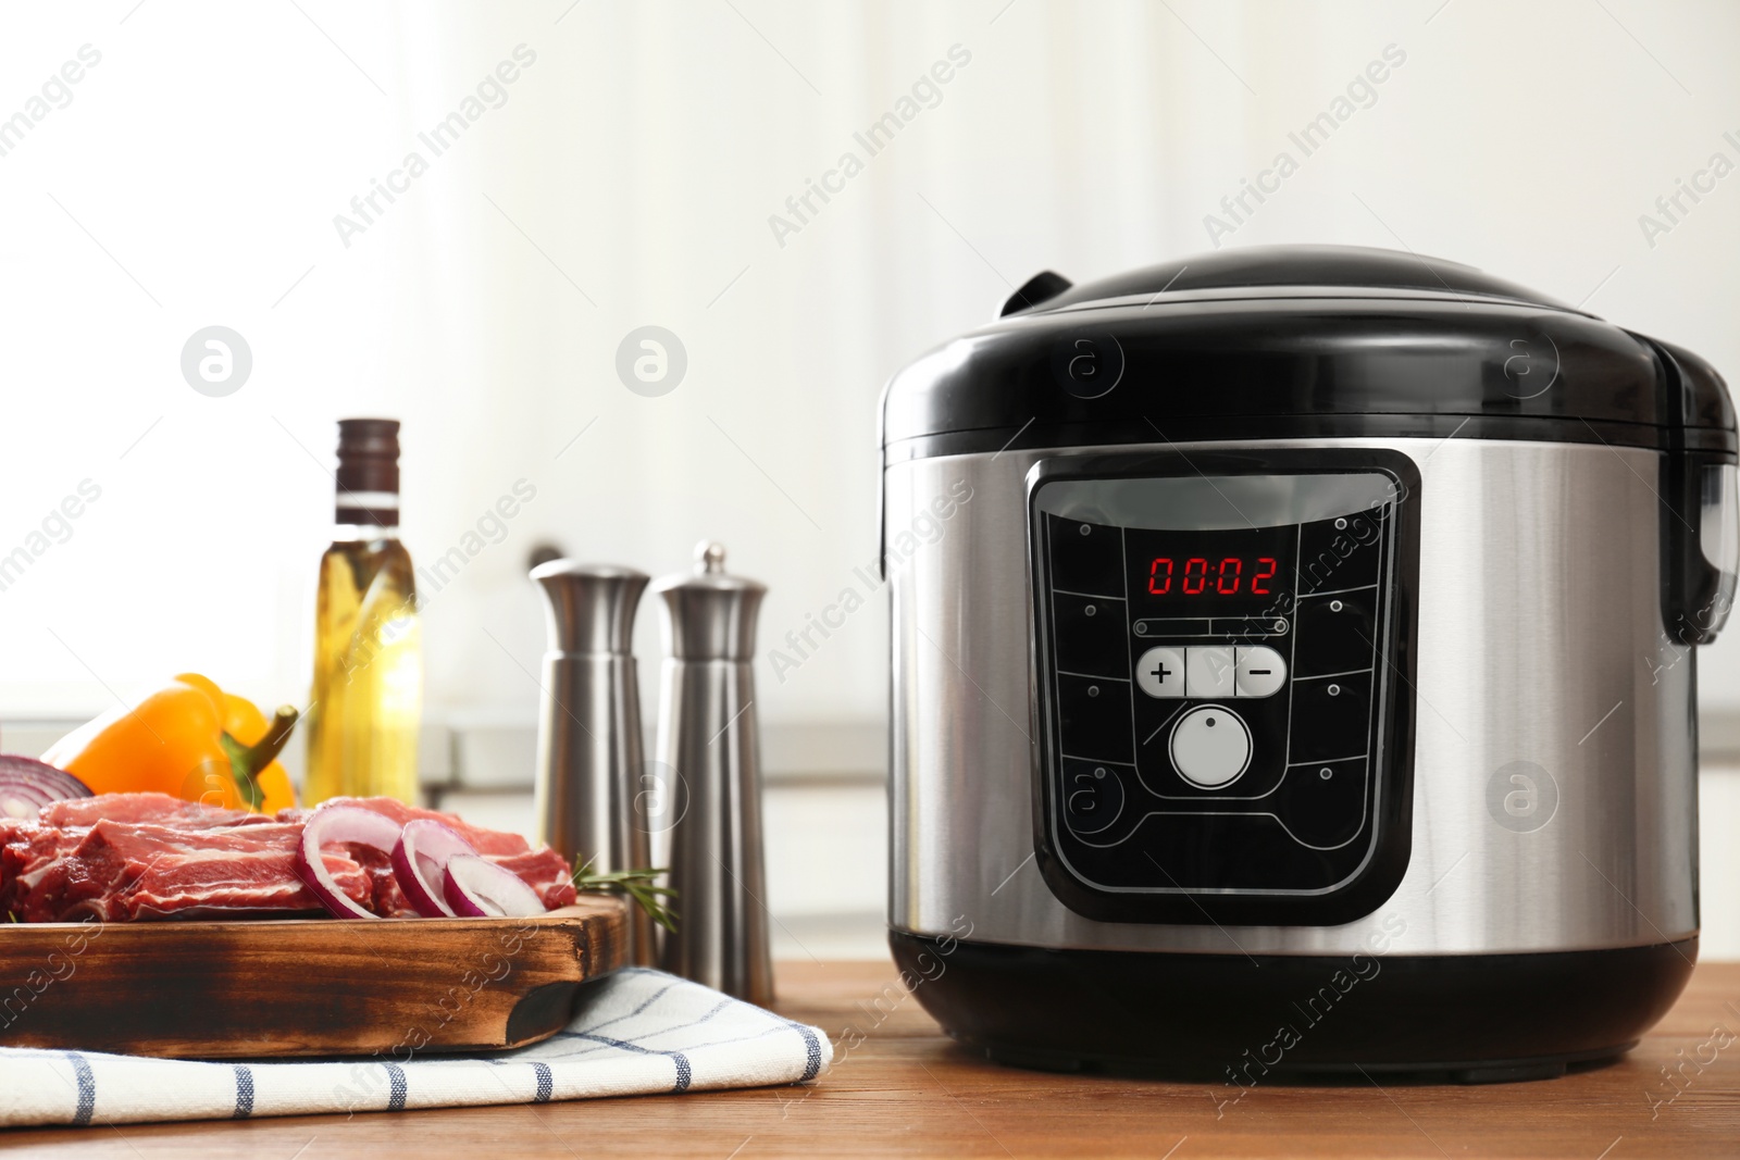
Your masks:
<path fill-rule="evenodd" d="M 1556 1075 L 1698 937 L 1696 355 L 1456 263 L 1070 285 L 882 402 L 891 943 L 1047 1068 Z"/>

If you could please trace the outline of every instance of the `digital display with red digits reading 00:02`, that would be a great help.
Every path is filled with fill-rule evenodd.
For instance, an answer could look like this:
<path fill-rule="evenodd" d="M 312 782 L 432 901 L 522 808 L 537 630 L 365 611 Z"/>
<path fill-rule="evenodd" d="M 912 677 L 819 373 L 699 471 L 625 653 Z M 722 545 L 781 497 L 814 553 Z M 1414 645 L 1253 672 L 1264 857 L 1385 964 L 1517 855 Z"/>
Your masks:
<path fill-rule="evenodd" d="M 1131 612 L 1263 616 L 1293 597 L 1298 527 L 1126 529 Z"/>

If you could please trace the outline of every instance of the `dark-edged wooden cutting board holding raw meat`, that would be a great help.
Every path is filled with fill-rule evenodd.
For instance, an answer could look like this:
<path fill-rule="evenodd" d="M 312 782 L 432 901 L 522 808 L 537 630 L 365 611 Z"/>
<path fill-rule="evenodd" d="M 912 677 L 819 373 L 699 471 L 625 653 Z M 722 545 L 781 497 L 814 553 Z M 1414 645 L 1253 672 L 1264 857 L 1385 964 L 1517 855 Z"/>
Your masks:
<path fill-rule="evenodd" d="M 626 960 L 626 901 L 536 918 L 0 925 L 0 1045 L 188 1059 L 519 1047 Z"/>

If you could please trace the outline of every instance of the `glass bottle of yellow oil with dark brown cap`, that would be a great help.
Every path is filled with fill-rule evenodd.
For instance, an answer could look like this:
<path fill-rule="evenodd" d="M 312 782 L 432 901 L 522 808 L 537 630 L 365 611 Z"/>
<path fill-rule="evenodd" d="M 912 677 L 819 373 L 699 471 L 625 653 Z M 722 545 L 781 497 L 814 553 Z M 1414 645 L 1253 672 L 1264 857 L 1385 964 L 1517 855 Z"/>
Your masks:
<path fill-rule="evenodd" d="M 320 557 L 303 803 L 416 803 L 423 654 L 411 553 L 398 541 L 398 421 L 341 419 L 338 430 L 338 529 Z"/>

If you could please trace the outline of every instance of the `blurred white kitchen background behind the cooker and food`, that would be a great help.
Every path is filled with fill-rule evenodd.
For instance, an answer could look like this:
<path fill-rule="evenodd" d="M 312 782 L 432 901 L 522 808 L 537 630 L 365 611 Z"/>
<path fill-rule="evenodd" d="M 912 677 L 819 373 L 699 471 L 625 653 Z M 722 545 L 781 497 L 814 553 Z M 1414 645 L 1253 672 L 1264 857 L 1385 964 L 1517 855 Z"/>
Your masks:
<path fill-rule="evenodd" d="M 1335 242 L 1737 379 L 1735 45 L 1723 0 L 7 5 L 0 748 L 183 670 L 301 704 L 334 421 L 392 416 L 405 541 L 449 560 L 440 802 L 531 826 L 538 546 L 663 574 L 719 539 L 771 588 L 776 953 L 879 955 L 884 598 L 767 657 L 868 595 L 889 374 L 1039 270 Z M 211 325 L 252 363 L 221 398 L 181 370 Z M 639 327 L 680 343 L 663 395 L 618 374 Z M 651 603 L 637 642 L 651 720 Z M 1737 958 L 1740 630 L 1700 661 L 1703 953 Z"/>

